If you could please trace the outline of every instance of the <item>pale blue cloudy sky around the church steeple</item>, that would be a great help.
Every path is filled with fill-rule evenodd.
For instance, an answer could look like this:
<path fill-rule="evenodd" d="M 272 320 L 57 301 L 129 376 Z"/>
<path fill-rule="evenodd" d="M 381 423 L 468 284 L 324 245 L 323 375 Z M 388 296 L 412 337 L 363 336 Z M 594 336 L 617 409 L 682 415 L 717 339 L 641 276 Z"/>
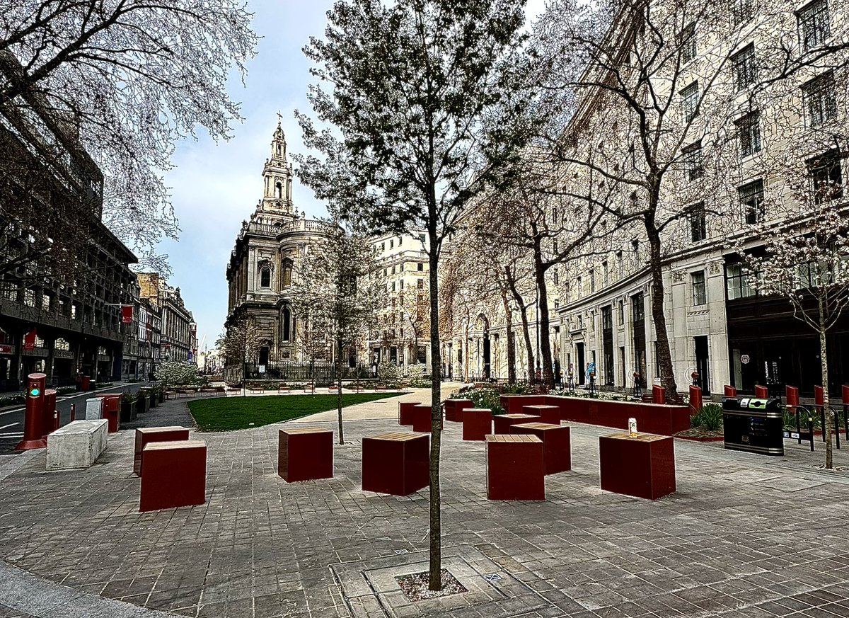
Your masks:
<path fill-rule="evenodd" d="M 528 0 L 527 14 L 536 16 L 545 0 Z M 180 288 L 198 324 L 199 351 L 212 350 L 227 317 L 225 277 L 230 251 L 243 220 L 262 197 L 262 166 L 270 154 L 278 112 L 289 152 L 303 152 L 295 110 L 311 111 L 306 90 L 312 82 L 310 63 L 301 49 L 311 36 L 321 37 L 333 0 L 249 0 L 254 30 L 262 38 L 248 63 L 245 83 L 235 76 L 231 98 L 241 102 L 244 121 L 232 127 L 232 138 L 215 143 L 199 132 L 197 140 L 177 144 L 174 169 L 166 176 L 180 221 L 178 241 L 166 240 L 160 252 L 169 256 L 169 283 Z M 309 217 L 325 209 L 295 177 L 292 199 Z"/>

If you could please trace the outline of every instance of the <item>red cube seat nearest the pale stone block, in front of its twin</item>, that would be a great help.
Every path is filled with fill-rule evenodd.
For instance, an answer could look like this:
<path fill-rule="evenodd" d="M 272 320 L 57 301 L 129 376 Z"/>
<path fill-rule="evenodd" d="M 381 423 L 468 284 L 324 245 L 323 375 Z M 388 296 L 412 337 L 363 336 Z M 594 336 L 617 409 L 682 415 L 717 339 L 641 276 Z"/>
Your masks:
<path fill-rule="evenodd" d="M 142 463 L 139 511 L 190 507 L 205 503 L 205 442 L 153 442 L 144 447 Z"/>

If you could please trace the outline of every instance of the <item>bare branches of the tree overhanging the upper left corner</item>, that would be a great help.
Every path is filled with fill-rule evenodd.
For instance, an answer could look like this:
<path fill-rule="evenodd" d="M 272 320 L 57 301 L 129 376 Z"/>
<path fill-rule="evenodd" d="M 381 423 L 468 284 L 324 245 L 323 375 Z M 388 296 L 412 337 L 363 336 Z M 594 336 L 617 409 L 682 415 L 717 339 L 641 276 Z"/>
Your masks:
<path fill-rule="evenodd" d="M 104 222 L 162 267 L 155 246 L 176 238 L 163 183 L 173 144 L 203 126 L 227 138 L 239 105 L 233 68 L 245 74 L 256 47 L 251 14 L 238 0 L 197 3 L 19 0 L 0 18 L 0 117 L 35 121 L 34 154 L 51 158 L 76 142 L 104 171 Z M 7 175 L 8 168 L 0 169 Z"/>

